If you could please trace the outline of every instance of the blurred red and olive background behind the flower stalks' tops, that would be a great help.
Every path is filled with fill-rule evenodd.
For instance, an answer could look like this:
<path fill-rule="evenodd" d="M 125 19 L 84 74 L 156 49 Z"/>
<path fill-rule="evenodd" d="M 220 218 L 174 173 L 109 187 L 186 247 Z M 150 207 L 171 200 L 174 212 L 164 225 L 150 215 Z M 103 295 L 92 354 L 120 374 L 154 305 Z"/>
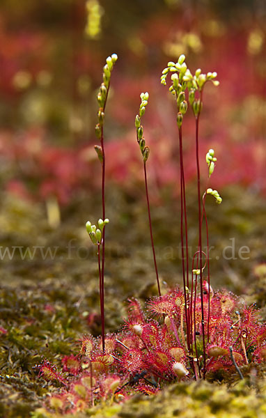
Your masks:
<path fill-rule="evenodd" d="M 265 193 L 264 18 L 256 0 L 2 0 L 2 189 L 62 205 L 97 189 L 96 94 L 102 65 L 116 52 L 104 127 L 109 181 L 134 193 L 142 180 L 134 118 L 139 94 L 148 91 L 143 125 L 151 189 L 155 196 L 164 187 L 175 190 L 175 104 L 159 79 L 166 63 L 184 53 L 191 71 L 217 71 L 220 81 L 205 88 L 201 117 L 203 169 L 209 148 L 218 158 L 212 187 L 234 183 Z M 191 114 L 185 119 L 190 180 L 194 123 Z"/>

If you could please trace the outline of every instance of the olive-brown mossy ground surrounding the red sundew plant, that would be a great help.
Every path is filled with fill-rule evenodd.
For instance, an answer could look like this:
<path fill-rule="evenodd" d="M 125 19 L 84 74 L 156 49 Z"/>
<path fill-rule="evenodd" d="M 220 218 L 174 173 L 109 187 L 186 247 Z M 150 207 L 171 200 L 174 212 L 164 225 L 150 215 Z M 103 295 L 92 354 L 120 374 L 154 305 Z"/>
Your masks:
<path fill-rule="evenodd" d="M 196 245 L 196 204 L 191 196 L 188 194 L 189 241 Z M 212 201 L 207 206 L 210 245 L 214 245 L 212 286 L 228 288 L 248 302 L 257 302 L 265 319 L 266 274 L 258 268 L 265 259 L 263 201 L 252 191 L 233 187 L 222 196 L 221 206 Z M 77 341 L 84 333 L 100 334 L 97 260 L 84 228 L 88 219 L 94 222 L 100 217 L 100 199 L 77 198 L 63 209 L 61 226 L 54 230 L 47 224 L 41 204 L 25 203 L 10 195 L 1 197 L 2 251 L 14 245 L 23 250 L 58 247 L 54 259 L 42 259 L 38 249 L 32 260 L 29 254 L 22 260 L 16 249 L 12 260 L 1 260 L 0 326 L 7 332 L 0 335 L 0 417 L 26 418 L 42 407 L 47 394 L 60 387 L 38 378 L 36 364 L 42 357 L 60 367 L 63 355 L 78 353 Z M 134 295 L 144 301 L 156 294 L 156 286 L 145 202 L 114 188 L 108 193 L 107 208 L 111 222 L 107 229 L 105 309 L 107 331 L 114 332 L 126 315 L 127 297 Z M 167 291 L 181 284 L 178 202 L 157 201 L 152 219 L 162 287 Z M 222 249 L 231 245 L 230 238 L 235 239 L 236 254 L 240 247 L 249 247 L 250 254 L 244 254 L 249 256 L 247 260 L 221 256 Z M 99 405 L 76 417 L 200 417 L 203 413 L 208 417 L 263 417 L 264 366 L 251 367 L 248 372 L 245 382 L 236 383 L 236 378 L 228 376 L 219 384 L 176 384 L 155 397 L 138 395 L 125 404 Z"/>

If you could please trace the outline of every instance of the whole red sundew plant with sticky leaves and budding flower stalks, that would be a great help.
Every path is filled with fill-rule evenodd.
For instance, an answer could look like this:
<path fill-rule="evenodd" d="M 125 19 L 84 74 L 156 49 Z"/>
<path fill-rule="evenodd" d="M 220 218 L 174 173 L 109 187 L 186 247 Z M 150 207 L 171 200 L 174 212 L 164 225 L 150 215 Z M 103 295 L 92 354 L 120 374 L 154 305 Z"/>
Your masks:
<path fill-rule="evenodd" d="M 61 386 L 49 396 L 45 409 L 42 409 L 45 416 L 53 416 L 54 413 L 74 414 L 88 408 L 92 408 L 89 410 L 93 414 L 93 408 L 97 405 L 121 403 L 136 392 L 159 396 L 159 392 L 173 382 L 224 379 L 228 382 L 245 382 L 251 373 L 251 366 L 266 360 L 266 325 L 261 323 L 256 307 L 247 306 L 232 293 L 212 289 L 205 199 L 210 195 L 217 205 L 222 199 L 219 192 L 210 187 L 210 178 L 217 162 L 214 150 L 207 150 L 206 170 L 201 173 L 198 146 L 205 84 L 211 82 L 218 86 L 219 82 L 216 72 L 203 74 L 198 69 L 193 75 L 187 68 L 185 55 L 181 55 L 176 63 L 169 62 L 161 77 L 165 86 L 169 82 L 169 92 L 176 104 L 180 153 L 180 219 L 177 222 L 182 246 L 182 286 L 164 294 L 159 284 L 148 192 L 150 148 L 146 145 L 142 125 L 149 100 L 149 94 L 145 92 L 140 95 L 135 128 L 136 143 L 143 160 L 147 233 L 150 232 L 158 295 L 147 300 L 144 308 L 138 300 L 129 300 L 128 315 L 120 330 L 105 334 L 104 231 L 112 220 L 106 218 L 105 210 L 105 158 L 108 156 L 104 153 L 104 114 L 107 111 L 111 72 L 117 58 L 116 54 L 107 58 L 103 82 L 97 95 L 99 110 L 96 134 L 100 144 L 95 145 L 95 150 L 102 166 L 102 217 L 97 224 L 91 220 L 86 222 L 89 238 L 97 249 L 102 335 L 97 338 L 84 335 L 78 342 L 79 353 L 61 359 L 62 370 L 46 360 L 40 364 L 40 376 L 50 382 L 57 381 Z M 198 248 L 191 264 L 182 150 L 186 114 L 189 111 L 193 113 L 195 123 L 194 159 L 198 200 Z M 206 253 L 203 252 L 203 242 L 206 243 Z"/>

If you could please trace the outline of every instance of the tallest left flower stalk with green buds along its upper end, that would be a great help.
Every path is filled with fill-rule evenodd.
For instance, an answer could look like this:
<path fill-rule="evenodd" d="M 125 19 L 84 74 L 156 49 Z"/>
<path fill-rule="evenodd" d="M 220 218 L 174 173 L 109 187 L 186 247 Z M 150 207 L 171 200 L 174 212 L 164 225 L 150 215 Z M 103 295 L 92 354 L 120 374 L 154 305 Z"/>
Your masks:
<path fill-rule="evenodd" d="M 112 54 L 111 56 L 107 57 L 106 64 L 103 68 L 103 82 L 100 86 L 99 93 L 97 94 L 97 102 L 99 104 L 98 109 L 98 123 L 95 126 L 95 133 L 97 138 L 100 139 L 100 146 L 95 145 L 95 151 L 97 156 L 102 164 L 102 219 L 105 219 L 105 153 L 104 153 L 104 111 L 107 104 L 107 98 L 110 88 L 110 79 L 111 79 L 111 72 L 114 68 L 114 64 L 116 63 L 118 56 L 116 54 Z M 98 257 L 102 262 L 101 265 L 101 279 L 100 279 L 100 296 L 103 304 L 103 309 L 101 309 L 101 315 L 104 315 L 104 255 L 105 255 L 105 231 L 104 225 L 102 227 L 102 254 L 99 254 Z M 102 319 L 102 327 L 104 327 L 104 319 Z M 104 338 L 102 339 L 102 351 L 104 351 Z"/>

